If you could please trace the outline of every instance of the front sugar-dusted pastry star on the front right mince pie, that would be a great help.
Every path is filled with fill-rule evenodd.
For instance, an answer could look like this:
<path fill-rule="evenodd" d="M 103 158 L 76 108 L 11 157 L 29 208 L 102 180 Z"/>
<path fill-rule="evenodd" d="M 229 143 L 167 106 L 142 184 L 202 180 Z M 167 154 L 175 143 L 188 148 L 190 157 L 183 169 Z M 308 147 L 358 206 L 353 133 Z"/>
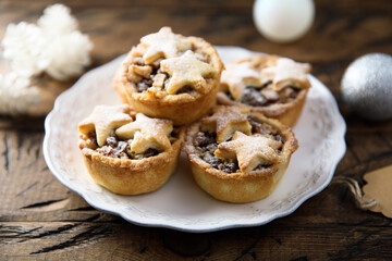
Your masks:
<path fill-rule="evenodd" d="M 260 164 L 279 162 L 274 149 L 282 146 L 281 141 L 264 136 L 246 136 L 236 132 L 233 140 L 220 144 L 215 154 L 220 159 L 236 159 L 242 173 L 249 173 Z"/>

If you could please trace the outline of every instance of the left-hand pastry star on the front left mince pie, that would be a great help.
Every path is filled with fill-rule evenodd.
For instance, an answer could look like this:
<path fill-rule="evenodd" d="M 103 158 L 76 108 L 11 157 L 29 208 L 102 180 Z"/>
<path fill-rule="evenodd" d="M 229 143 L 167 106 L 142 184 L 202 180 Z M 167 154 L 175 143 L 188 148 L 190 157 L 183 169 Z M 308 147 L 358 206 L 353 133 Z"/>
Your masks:
<path fill-rule="evenodd" d="M 131 110 L 131 107 L 126 104 L 97 105 L 93 113 L 78 125 L 78 130 L 84 135 L 95 130 L 98 146 L 102 147 L 113 129 L 133 121 L 130 115 Z"/>

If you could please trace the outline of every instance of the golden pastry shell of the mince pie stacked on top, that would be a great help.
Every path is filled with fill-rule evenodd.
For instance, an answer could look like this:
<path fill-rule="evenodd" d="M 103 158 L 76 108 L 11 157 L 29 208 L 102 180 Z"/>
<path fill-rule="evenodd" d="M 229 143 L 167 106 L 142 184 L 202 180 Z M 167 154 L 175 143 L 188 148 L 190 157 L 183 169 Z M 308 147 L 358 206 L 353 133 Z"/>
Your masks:
<path fill-rule="evenodd" d="M 147 97 L 146 91 L 138 92 L 136 85 L 128 82 L 126 77 L 126 66 L 131 64 L 128 62 L 132 57 L 131 51 L 115 74 L 113 82 L 121 100 L 147 116 L 172 120 L 174 125 L 186 125 L 201 117 L 216 101 L 223 63 L 217 50 L 206 40 L 198 37 L 187 38 L 196 48 L 205 50 L 210 58 L 210 64 L 217 71 L 216 77 L 207 80 L 205 94 L 198 92 L 195 96 L 188 94 L 167 95 L 163 98 L 156 98 Z"/>

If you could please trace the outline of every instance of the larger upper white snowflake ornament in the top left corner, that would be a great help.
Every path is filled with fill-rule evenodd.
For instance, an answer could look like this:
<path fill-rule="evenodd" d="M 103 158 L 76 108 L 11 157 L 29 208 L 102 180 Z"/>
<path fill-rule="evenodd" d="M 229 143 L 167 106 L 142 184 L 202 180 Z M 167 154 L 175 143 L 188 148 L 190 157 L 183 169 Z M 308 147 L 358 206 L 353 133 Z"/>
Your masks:
<path fill-rule="evenodd" d="M 3 57 L 22 77 L 42 72 L 59 80 L 83 73 L 90 63 L 93 44 L 77 30 L 77 21 L 63 4 L 44 11 L 38 26 L 21 22 L 10 24 L 2 40 Z"/>

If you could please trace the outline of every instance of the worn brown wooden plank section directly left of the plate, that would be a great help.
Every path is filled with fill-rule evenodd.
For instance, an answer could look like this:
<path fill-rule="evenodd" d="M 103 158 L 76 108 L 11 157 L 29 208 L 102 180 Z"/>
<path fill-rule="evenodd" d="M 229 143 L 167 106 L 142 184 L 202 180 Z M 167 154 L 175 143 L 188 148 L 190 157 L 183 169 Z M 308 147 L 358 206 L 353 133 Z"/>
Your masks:
<path fill-rule="evenodd" d="M 2 182 L 7 186 L 0 187 L 2 204 L 0 213 L 11 209 L 20 209 L 37 201 L 50 194 L 52 199 L 64 198 L 68 189 L 58 182 L 46 186 L 54 177 L 48 171 L 44 160 L 41 145 L 42 134 L 34 132 L 5 132 L 4 142 L 8 153 L 0 157 L 5 162 L 8 175 Z M 45 189 L 42 189 L 45 187 Z M 39 191 L 39 192 L 37 192 Z"/>

